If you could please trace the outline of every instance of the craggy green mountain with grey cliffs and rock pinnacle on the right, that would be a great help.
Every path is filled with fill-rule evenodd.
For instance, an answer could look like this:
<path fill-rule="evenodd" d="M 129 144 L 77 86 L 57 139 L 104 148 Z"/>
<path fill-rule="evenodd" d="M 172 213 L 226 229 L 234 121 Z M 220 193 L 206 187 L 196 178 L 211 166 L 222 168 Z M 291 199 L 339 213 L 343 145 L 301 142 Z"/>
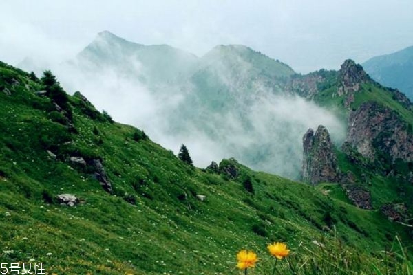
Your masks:
<path fill-rule="evenodd" d="M 347 197 L 364 209 L 401 205 L 411 212 L 410 100 L 372 80 L 351 60 L 345 61 L 338 72 L 321 70 L 296 76 L 290 83 L 290 91 L 335 110 L 347 124 L 346 139 L 339 146 L 332 146 L 324 127 L 315 134 L 308 130 L 303 137 L 303 179 L 311 184 L 339 182 Z"/>

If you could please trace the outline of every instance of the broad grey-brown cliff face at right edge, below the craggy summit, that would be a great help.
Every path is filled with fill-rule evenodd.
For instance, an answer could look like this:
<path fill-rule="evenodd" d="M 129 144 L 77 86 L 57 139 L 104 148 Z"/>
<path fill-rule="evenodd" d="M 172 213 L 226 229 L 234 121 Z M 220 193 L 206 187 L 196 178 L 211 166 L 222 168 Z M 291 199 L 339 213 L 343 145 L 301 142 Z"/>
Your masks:
<path fill-rule="evenodd" d="M 350 113 L 346 141 L 371 161 L 380 153 L 393 161 L 412 162 L 413 134 L 409 127 L 394 111 L 366 102 Z"/>

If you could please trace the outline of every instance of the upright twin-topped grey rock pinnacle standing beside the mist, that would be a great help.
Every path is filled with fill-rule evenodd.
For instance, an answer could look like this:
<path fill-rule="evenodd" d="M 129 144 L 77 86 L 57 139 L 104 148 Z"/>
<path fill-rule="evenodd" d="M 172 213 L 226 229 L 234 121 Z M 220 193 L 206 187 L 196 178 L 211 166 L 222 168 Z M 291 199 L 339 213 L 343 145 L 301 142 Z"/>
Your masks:
<path fill-rule="evenodd" d="M 337 157 L 333 151 L 330 134 L 320 125 L 314 133 L 308 129 L 303 137 L 304 157 L 301 177 L 310 184 L 322 181 L 339 181 Z"/>

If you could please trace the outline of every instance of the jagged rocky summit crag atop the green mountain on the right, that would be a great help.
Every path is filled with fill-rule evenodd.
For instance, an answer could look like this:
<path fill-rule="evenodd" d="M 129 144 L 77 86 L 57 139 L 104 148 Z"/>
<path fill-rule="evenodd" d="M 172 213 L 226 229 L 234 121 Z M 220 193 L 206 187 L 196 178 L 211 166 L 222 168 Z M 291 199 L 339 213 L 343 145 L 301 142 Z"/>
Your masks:
<path fill-rule="evenodd" d="M 337 94 L 349 94 L 354 91 L 359 91 L 360 84 L 370 80 L 368 74 L 364 72 L 360 64 L 356 64 L 351 59 L 344 61 L 339 71 L 339 90 Z"/>

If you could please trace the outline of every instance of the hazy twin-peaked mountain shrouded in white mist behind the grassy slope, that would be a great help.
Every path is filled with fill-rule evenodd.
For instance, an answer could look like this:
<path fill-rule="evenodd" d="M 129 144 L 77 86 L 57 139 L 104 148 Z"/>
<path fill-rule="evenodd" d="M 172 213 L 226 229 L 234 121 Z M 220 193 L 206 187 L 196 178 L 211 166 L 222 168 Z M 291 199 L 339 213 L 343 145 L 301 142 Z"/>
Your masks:
<path fill-rule="evenodd" d="M 335 143 L 345 135 L 334 114 L 285 91 L 293 69 L 244 45 L 197 57 L 102 32 L 56 74 L 67 90 L 81 90 L 167 148 L 187 144 L 198 166 L 235 157 L 298 179 L 308 127 L 324 124 Z"/>

